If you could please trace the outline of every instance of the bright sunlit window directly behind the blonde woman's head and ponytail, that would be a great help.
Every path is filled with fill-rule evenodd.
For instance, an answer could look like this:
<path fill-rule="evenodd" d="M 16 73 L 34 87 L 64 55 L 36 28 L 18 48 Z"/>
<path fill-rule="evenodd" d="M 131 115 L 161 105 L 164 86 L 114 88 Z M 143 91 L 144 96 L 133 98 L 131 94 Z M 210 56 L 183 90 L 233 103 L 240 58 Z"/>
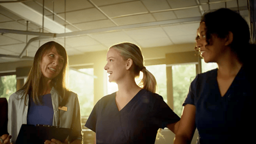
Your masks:
<path fill-rule="evenodd" d="M 158 86 L 158 93 L 164 98 L 164 101 L 167 103 L 167 82 L 166 82 L 166 65 L 151 65 L 151 66 L 146 66 L 147 70 L 151 72 L 155 78 L 156 78 L 156 83 Z M 135 82 L 137 84 L 140 83 L 141 79 L 143 77 L 143 73 L 140 72 L 140 76 L 135 78 Z M 108 80 L 108 76 L 107 76 Z M 107 94 L 111 94 L 113 92 L 118 91 L 118 87 L 116 83 L 107 83 Z"/>

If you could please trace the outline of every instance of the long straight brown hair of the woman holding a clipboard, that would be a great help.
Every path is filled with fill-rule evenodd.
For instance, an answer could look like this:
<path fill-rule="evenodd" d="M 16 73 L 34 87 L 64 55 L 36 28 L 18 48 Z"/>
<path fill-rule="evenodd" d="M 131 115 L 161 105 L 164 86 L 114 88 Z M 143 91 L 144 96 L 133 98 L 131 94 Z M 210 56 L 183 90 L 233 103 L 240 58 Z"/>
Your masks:
<path fill-rule="evenodd" d="M 42 57 L 45 53 L 47 53 L 49 50 L 51 50 L 53 47 L 57 50 L 58 54 L 60 54 L 63 59 L 63 68 L 60 71 L 59 75 L 52 79 L 51 83 L 53 87 L 56 89 L 58 94 L 60 96 L 64 96 L 65 92 L 67 91 L 67 71 L 68 71 L 68 55 L 65 50 L 65 48 L 54 42 L 47 42 L 39 47 L 39 49 L 36 52 L 36 55 L 34 57 L 33 66 L 30 69 L 30 72 L 28 74 L 28 79 L 24 86 L 17 91 L 17 94 L 22 94 L 22 97 L 25 96 L 24 103 L 26 104 L 27 96 L 33 98 L 33 101 L 38 104 L 41 103 L 41 100 L 39 99 L 39 96 L 43 94 L 44 91 L 44 85 L 42 82 L 42 71 L 40 68 L 40 62 L 42 60 Z"/>

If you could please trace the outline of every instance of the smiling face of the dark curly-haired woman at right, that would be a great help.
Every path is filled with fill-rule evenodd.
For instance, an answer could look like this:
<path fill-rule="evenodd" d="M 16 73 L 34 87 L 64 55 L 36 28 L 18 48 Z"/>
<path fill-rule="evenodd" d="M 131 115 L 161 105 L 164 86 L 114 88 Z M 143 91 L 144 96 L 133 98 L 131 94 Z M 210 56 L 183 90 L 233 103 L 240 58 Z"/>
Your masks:
<path fill-rule="evenodd" d="M 198 47 L 200 55 L 204 58 L 205 62 L 217 62 L 224 53 L 225 39 L 212 34 L 211 44 L 207 44 L 205 32 L 205 23 L 201 22 L 197 32 L 196 47 Z"/>

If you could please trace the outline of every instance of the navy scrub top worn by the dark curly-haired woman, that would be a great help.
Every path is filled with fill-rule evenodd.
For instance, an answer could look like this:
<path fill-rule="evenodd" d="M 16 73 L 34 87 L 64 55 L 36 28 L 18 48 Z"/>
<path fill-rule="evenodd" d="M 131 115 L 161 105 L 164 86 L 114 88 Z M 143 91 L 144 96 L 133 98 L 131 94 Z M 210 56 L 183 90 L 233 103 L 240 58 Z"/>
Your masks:
<path fill-rule="evenodd" d="M 242 67 L 221 97 L 217 69 L 199 74 L 190 85 L 183 106 L 196 107 L 200 144 L 252 143 L 252 85 Z"/>

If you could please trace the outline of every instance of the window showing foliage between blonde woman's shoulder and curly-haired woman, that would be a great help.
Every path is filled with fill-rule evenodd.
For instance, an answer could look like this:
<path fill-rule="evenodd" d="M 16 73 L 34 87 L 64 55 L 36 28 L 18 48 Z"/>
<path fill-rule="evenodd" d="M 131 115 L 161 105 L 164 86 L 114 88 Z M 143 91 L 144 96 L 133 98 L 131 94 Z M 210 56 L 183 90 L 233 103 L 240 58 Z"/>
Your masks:
<path fill-rule="evenodd" d="M 195 64 L 172 66 L 173 109 L 178 116 L 181 116 L 182 104 L 195 76 Z"/>

